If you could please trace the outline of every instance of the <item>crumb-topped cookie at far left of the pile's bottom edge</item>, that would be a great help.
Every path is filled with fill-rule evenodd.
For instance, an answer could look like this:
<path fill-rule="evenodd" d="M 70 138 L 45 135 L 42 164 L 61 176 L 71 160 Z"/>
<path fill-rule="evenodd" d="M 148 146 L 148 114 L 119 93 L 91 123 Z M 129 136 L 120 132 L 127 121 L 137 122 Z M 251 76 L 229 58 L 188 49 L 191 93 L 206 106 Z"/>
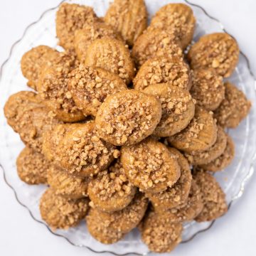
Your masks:
<path fill-rule="evenodd" d="M 41 217 L 55 230 L 68 229 L 78 225 L 87 213 L 89 200 L 87 198 L 68 199 L 58 196 L 52 188 L 48 188 L 40 200 Z"/>

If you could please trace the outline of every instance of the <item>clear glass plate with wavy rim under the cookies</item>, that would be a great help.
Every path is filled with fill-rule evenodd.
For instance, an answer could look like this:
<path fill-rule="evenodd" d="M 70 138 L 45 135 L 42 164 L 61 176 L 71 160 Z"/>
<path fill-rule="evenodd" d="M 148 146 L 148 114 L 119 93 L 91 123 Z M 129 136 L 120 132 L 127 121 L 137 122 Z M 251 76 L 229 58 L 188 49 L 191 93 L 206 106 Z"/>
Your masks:
<path fill-rule="evenodd" d="M 108 0 L 80 0 L 68 2 L 92 6 L 98 16 L 104 16 L 109 6 Z M 146 0 L 149 17 L 161 6 L 171 2 L 174 1 Z M 179 2 L 191 6 L 196 16 L 197 23 L 194 41 L 197 41 L 198 38 L 205 33 L 225 31 L 220 21 L 208 15 L 201 6 L 197 6 L 186 0 Z M 4 180 L 10 188 L 13 189 L 18 203 L 27 208 L 31 217 L 42 225 L 46 225 L 46 223 L 41 220 L 38 201 L 41 194 L 46 189 L 46 186 L 28 186 L 26 183 L 19 180 L 16 173 L 16 157 L 21 149 L 23 149 L 23 144 L 18 134 L 14 133 L 11 127 L 6 124 L 3 107 L 8 97 L 14 92 L 29 90 L 26 86 L 26 79 L 23 78 L 20 68 L 20 60 L 23 53 L 41 44 L 62 50 L 62 48 L 57 46 L 57 39 L 55 37 L 55 12 L 57 9 L 58 6 L 46 10 L 38 21 L 26 28 L 23 37 L 11 47 L 9 58 L 1 66 L 0 71 L 0 167 L 4 174 Z M 233 163 L 224 171 L 215 174 L 215 177 L 226 193 L 230 208 L 232 203 L 242 196 L 245 185 L 253 174 L 253 164 L 256 159 L 256 82 L 250 70 L 250 63 L 242 52 L 240 52 L 238 67 L 229 80 L 234 82 L 240 90 L 245 92 L 247 97 L 252 101 L 250 115 L 237 129 L 228 130 L 228 133 L 235 140 L 235 159 Z M 214 222 L 186 223 L 183 231 L 183 242 L 188 242 L 199 233 L 208 230 L 213 223 Z M 46 228 L 48 228 L 47 225 Z M 70 228 L 69 230 L 52 231 L 50 228 L 48 228 L 48 230 L 53 233 L 53 235 L 64 238 L 70 242 L 70 244 L 86 247 L 92 252 L 111 252 L 114 255 L 146 255 L 149 252 L 146 245 L 140 240 L 138 230 L 132 231 L 132 233 L 129 233 L 123 240 L 114 245 L 102 245 L 100 242 L 97 242 L 87 232 L 84 222 L 80 223 L 78 227 Z"/>

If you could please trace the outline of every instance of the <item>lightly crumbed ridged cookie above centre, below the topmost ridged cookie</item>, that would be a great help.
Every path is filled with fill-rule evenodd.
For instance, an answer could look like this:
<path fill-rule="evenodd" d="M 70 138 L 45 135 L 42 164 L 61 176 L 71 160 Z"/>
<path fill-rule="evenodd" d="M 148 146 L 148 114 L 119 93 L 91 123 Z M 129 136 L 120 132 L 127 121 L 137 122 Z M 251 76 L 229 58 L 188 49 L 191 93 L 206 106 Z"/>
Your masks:
<path fill-rule="evenodd" d="M 93 41 L 86 51 L 85 65 L 103 68 L 119 75 L 126 84 L 134 78 L 134 63 L 129 49 L 122 41 L 100 38 Z"/>

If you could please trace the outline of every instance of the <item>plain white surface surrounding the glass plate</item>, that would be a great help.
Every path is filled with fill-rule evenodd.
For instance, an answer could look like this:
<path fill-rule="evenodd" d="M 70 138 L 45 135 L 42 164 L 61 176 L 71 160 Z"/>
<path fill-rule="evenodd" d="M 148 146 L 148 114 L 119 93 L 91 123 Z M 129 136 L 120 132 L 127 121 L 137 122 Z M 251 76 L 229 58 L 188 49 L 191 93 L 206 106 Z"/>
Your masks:
<path fill-rule="evenodd" d="M 95 0 L 97 1 L 97 0 Z M 159 0 L 160 1 L 160 0 Z M 256 1 L 191 0 L 218 18 L 237 38 L 249 57 L 256 74 Z M 9 55 L 12 43 L 21 37 L 26 26 L 59 0 L 0 0 L 0 63 Z M 0 95 L 1 97 L 1 95 Z M 171 255 L 222 256 L 256 255 L 256 174 L 247 185 L 240 201 L 207 233 L 179 246 Z M 0 255 L 94 255 L 73 247 L 51 235 L 43 225 L 32 220 L 21 207 L 0 172 Z"/>

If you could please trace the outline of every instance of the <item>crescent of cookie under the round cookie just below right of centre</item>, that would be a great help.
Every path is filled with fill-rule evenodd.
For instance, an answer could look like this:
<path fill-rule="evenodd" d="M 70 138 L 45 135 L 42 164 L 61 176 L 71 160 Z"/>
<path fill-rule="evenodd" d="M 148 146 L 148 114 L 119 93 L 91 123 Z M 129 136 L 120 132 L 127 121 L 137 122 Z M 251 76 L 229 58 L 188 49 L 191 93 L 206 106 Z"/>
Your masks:
<path fill-rule="evenodd" d="M 191 190 L 192 175 L 188 161 L 177 149 L 170 147 L 168 149 L 171 154 L 177 158 L 178 165 L 181 168 L 181 176 L 174 186 L 167 188 L 166 191 L 160 193 L 146 193 L 146 196 L 158 211 L 175 208 L 186 203 L 189 191 Z"/>

